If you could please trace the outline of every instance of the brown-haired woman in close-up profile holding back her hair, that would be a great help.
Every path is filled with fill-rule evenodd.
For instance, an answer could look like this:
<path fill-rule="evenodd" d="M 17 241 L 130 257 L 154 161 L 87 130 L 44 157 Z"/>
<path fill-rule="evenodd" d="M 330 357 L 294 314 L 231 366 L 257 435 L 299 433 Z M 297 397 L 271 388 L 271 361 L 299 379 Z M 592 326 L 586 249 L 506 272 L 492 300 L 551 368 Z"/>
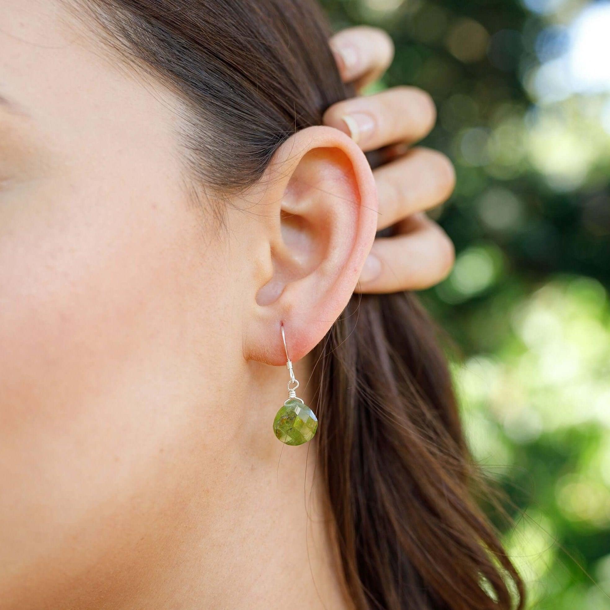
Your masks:
<path fill-rule="evenodd" d="M 451 175 L 354 142 L 423 135 L 427 98 L 342 101 L 309 0 L 0 12 L 2 609 L 510 608 L 431 326 L 353 295 L 443 239 L 373 244 Z"/>

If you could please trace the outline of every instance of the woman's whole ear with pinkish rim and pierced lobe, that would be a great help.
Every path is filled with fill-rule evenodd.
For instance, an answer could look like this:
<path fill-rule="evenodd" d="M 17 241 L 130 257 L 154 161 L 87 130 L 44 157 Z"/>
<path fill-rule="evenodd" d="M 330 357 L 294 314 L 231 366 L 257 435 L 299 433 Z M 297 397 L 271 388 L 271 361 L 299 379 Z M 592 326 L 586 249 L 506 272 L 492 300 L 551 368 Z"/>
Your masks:
<path fill-rule="evenodd" d="M 290 359 L 298 361 L 350 300 L 375 239 L 376 186 L 353 140 L 314 126 L 276 151 L 256 199 L 265 208 L 257 224 L 262 243 L 248 259 L 256 295 L 244 311 L 244 355 L 282 365 L 282 323 Z"/>

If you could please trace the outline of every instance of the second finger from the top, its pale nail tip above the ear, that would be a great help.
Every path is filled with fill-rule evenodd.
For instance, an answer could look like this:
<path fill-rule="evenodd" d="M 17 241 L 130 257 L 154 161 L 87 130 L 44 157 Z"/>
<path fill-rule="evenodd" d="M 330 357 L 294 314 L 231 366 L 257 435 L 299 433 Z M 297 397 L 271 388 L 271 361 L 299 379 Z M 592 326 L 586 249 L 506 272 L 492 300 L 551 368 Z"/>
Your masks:
<path fill-rule="evenodd" d="M 364 151 L 397 142 L 416 142 L 436 121 L 432 98 L 415 87 L 346 99 L 329 107 L 323 122 L 348 134 Z"/>

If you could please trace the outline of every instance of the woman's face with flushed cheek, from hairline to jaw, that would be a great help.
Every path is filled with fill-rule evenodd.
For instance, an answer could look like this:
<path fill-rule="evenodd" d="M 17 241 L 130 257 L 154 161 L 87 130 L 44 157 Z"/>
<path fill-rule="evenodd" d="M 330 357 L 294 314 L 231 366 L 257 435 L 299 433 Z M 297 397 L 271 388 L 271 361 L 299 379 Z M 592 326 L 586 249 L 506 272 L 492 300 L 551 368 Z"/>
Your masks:
<path fill-rule="evenodd" d="M 230 442 L 215 409 L 235 381 L 240 313 L 226 281 L 239 250 L 187 195 L 174 99 L 57 2 L 0 0 L 0 15 L 6 602 L 39 561 L 49 583 L 57 570 L 91 578 L 104 549 L 113 570 L 137 570 L 163 544 L 143 533 L 179 520 L 201 486 L 188 448 L 205 458 Z M 73 553 L 53 564 L 66 542 Z"/>

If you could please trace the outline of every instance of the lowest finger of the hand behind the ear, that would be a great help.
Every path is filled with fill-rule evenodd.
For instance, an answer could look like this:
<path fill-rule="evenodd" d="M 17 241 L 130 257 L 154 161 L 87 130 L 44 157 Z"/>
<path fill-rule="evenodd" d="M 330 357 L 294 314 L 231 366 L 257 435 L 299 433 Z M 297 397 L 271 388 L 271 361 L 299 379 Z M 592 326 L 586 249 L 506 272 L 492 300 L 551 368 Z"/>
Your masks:
<path fill-rule="evenodd" d="M 447 234 L 423 213 L 401 224 L 402 234 L 375 240 L 355 292 L 422 290 L 447 277 L 455 257 Z"/>

